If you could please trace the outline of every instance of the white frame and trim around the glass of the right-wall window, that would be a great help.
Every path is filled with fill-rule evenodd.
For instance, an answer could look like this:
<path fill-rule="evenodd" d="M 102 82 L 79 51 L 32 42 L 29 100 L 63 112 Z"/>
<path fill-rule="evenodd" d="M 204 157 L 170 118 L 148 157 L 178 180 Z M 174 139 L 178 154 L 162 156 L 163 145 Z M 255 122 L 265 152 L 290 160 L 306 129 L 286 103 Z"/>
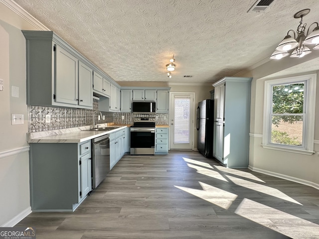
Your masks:
<path fill-rule="evenodd" d="M 303 145 L 293 146 L 271 143 L 273 86 L 305 82 L 304 88 L 304 120 Z M 279 78 L 265 81 L 264 88 L 264 120 L 262 146 L 268 149 L 312 155 L 314 153 L 315 106 L 316 106 L 317 74 Z"/>

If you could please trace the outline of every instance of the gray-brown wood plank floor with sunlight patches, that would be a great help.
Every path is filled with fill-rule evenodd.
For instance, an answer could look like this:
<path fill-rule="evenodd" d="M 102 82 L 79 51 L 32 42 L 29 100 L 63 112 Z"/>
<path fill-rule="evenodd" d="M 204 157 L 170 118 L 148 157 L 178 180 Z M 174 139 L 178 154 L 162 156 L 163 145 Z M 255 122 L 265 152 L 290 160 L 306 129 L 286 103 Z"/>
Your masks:
<path fill-rule="evenodd" d="M 74 213 L 16 226 L 37 239 L 318 239 L 319 190 L 198 152 L 126 155 Z"/>

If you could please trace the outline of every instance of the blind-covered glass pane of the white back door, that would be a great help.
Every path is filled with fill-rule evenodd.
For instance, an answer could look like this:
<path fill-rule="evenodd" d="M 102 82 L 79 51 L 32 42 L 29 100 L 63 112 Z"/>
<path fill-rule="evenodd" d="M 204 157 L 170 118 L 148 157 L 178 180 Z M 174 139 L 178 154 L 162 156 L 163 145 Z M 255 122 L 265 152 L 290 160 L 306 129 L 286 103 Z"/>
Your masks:
<path fill-rule="evenodd" d="M 174 98 L 174 143 L 190 141 L 190 99 Z"/>

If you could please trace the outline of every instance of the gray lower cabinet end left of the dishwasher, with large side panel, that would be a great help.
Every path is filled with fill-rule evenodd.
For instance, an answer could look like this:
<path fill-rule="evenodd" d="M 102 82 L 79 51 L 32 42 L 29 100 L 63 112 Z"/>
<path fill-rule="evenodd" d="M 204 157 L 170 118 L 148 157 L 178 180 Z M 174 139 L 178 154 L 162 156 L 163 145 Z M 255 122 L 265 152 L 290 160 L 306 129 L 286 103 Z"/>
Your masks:
<path fill-rule="evenodd" d="M 91 140 L 30 143 L 33 212 L 74 211 L 92 189 Z"/>

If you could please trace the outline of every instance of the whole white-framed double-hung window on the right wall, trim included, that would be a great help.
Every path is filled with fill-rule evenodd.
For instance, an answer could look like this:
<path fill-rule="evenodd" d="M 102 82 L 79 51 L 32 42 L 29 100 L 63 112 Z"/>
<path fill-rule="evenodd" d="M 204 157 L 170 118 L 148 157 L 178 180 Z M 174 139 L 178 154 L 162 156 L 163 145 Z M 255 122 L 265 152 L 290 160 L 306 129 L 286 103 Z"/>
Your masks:
<path fill-rule="evenodd" d="M 265 81 L 263 147 L 313 154 L 317 75 Z"/>

